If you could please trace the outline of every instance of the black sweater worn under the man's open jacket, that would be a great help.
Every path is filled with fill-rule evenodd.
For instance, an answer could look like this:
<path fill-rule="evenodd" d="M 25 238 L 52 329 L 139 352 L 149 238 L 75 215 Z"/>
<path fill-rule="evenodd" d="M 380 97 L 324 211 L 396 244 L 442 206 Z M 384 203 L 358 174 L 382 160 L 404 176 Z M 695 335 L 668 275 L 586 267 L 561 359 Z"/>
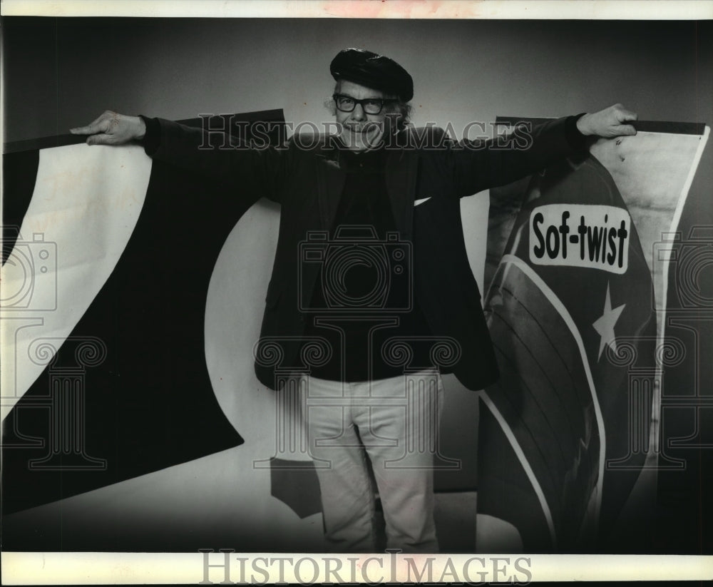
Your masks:
<path fill-rule="evenodd" d="M 432 367 L 425 345 L 413 341 L 431 331 L 414 299 L 412 248 L 396 231 L 384 155 L 383 149 L 339 151 L 347 179 L 325 247 L 331 258 L 315 284 L 305 332 L 327 338 L 333 354 L 312 369 L 314 377 L 359 382 L 403 374 L 403 367 L 382 358 L 382 345 L 391 337 L 411 340 L 411 364 Z"/>

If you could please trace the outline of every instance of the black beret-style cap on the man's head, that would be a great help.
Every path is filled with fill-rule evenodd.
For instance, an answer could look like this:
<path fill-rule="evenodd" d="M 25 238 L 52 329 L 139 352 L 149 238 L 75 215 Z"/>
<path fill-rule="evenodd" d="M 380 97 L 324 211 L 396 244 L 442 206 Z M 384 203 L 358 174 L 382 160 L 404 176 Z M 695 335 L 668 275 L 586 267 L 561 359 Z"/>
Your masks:
<path fill-rule="evenodd" d="M 393 59 L 365 51 L 342 49 L 332 59 L 329 71 L 335 80 L 346 79 L 360 86 L 391 93 L 408 102 L 414 97 L 414 80 Z"/>

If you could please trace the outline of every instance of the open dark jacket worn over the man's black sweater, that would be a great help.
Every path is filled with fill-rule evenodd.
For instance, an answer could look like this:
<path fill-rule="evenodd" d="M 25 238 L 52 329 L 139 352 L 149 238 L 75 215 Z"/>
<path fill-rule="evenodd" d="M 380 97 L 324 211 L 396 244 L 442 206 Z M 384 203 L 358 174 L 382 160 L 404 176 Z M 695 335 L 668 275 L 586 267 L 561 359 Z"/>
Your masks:
<path fill-rule="evenodd" d="M 401 241 L 412 243 L 414 296 L 436 337 L 458 342 L 451 369 L 469 389 L 498 378 L 498 367 L 481 307 L 481 294 L 463 240 L 463 196 L 511 183 L 545 168 L 583 146 L 575 117 L 520 132 L 509 145 L 494 141 L 454 143 L 443 131 L 400 133 L 386 155 L 386 185 Z M 217 178 L 236 198 L 278 202 L 281 221 L 272 277 L 265 298 L 255 372 L 275 387 L 275 367 L 299 365 L 307 315 L 300 309 L 314 284 L 314 270 L 298 267 L 298 251 L 309 230 L 329 230 L 346 174 L 339 147 L 320 138 L 310 148 L 199 150 L 200 129 L 158 119 L 160 145 L 152 156 Z M 302 141 L 306 143 L 307 141 Z M 416 200 L 429 198 L 414 206 Z M 236 218 L 237 221 L 237 218 Z M 311 271 L 311 272 L 310 272 Z M 307 292 L 305 294 L 305 292 Z M 278 356 L 280 353 L 281 356 Z"/>

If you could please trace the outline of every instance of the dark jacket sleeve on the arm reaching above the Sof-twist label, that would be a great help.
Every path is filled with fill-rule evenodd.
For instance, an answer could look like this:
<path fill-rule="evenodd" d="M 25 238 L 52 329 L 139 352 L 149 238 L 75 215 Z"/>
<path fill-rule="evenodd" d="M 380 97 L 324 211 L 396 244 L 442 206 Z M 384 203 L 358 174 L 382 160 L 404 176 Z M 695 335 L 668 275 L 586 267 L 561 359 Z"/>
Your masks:
<path fill-rule="evenodd" d="M 488 141 L 461 141 L 446 153 L 459 197 L 505 185 L 584 150 L 586 137 L 577 129 L 582 116 L 569 116 L 518 127 L 508 136 Z"/>

